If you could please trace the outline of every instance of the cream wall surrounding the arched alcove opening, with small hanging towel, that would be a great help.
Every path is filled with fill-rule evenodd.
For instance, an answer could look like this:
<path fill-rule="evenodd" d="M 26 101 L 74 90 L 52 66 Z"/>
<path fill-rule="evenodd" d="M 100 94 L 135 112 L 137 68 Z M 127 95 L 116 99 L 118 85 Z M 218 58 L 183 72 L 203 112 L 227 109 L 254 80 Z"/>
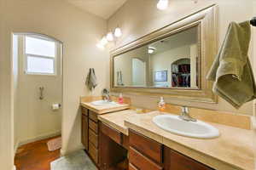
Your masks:
<path fill-rule="evenodd" d="M 109 84 L 109 56 L 96 48 L 107 31 L 106 20 L 84 13 L 62 0 L 0 0 L 0 169 L 13 166 L 13 93 L 11 33 L 38 32 L 63 42 L 62 153 L 82 148 L 79 97 L 90 95 L 84 80 L 96 69 L 101 94 Z"/>

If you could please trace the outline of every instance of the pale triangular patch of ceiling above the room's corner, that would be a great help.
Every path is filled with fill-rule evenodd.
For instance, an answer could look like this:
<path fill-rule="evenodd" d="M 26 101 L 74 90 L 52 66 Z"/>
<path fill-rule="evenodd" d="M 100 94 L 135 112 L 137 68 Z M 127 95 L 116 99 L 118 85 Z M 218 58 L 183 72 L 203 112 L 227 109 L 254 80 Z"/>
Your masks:
<path fill-rule="evenodd" d="M 127 0 L 65 0 L 90 14 L 96 14 L 103 19 L 108 19 Z"/>

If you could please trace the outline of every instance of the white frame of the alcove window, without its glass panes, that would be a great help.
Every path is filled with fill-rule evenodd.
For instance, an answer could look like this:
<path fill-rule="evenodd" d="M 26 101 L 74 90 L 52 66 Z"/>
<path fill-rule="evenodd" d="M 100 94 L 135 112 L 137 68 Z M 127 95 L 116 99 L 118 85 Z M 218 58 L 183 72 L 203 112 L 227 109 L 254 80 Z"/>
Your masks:
<path fill-rule="evenodd" d="M 38 55 L 38 54 L 26 54 L 26 37 L 32 37 L 32 38 L 37 38 L 37 39 L 41 39 L 44 41 L 49 41 L 49 42 L 55 42 L 54 40 L 51 40 L 49 38 L 46 37 L 40 37 L 40 36 L 24 36 L 23 38 L 23 54 L 24 54 L 24 72 L 26 75 L 43 75 L 43 76 L 57 76 L 57 43 L 55 42 L 55 56 L 47 56 L 47 55 Z M 44 72 L 32 72 L 32 71 L 27 71 L 27 58 L 28 56 L 32 56 L 32 57 L 37 57 L 37 58 L 41 58 L 41 59 L 53 59 L 54 62 L 54 72 L 53 73 L 44 73 Z"/>

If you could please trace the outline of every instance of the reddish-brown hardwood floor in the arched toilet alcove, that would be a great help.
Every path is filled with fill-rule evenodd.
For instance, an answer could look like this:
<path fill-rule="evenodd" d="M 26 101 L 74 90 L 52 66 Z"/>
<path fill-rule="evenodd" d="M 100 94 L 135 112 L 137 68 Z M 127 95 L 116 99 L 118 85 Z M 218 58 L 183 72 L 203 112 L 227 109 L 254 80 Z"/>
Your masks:
<path fill-rule="evenodd" d="M 15 155 L 16 169 L 50 170 L 50 162 L 60 157 L 60 150 L 49 151 L 48 141 L 49 139 L 44 139 L 20 146 Z"/>

